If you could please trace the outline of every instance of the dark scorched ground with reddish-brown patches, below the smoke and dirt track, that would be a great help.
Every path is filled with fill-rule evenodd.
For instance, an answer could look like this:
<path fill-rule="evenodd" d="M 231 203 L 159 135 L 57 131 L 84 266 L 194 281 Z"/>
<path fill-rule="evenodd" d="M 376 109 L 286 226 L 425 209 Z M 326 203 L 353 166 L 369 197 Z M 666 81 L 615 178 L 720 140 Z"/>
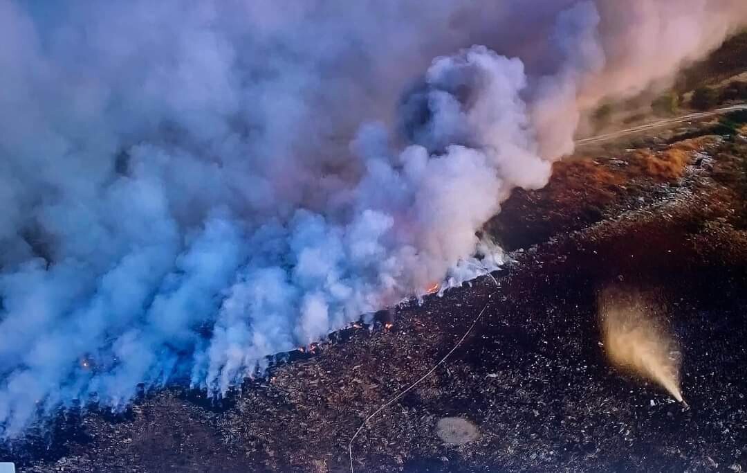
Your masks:
<path fill-rule="evenodd" d="M 61 414 L 0 460 L 25 472 L 350 471 L 362 421 L 485 308 L 362 430 L 356 472 L 747 469 L 742 119 L 557 164 L 548 187 L 515 192 L 486 227 L 512 251 L 495 280 L 400 305 L 389 329 L 332 335 L 218 404 L 172 387 L 120 415 Z M 666 307 L 690 409 L 605 361 L 596 297 L 610 285 Z"/>

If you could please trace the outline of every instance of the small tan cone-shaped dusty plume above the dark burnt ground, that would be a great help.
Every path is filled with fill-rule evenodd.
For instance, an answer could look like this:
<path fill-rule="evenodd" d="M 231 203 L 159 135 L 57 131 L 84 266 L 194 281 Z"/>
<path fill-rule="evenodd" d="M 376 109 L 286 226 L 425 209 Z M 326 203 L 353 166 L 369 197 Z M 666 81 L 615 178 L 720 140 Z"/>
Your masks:
<path fill-rule="evenodd" d="M 617 288 L 602 291 L 598 306 L 610 363 L 656 382 L 684 403 L 679 346 L 669 335 L 661 306 L 651 296 Z"/>

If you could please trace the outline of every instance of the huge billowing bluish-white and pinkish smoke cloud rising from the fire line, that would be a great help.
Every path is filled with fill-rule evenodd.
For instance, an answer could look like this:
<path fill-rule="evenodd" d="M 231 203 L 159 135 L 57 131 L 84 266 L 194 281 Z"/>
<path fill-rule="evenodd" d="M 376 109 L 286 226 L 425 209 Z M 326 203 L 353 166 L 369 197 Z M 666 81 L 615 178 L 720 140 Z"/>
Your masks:
<path fill-rule="evenodd" d="M 601 98 L 741 0 L 0 0 L 0 430 L 267 355 L 500 263 Z M 482 45 L 482 46 L 474 46 Z M 435 58 L 435 59 L 434 59 Z"/>

